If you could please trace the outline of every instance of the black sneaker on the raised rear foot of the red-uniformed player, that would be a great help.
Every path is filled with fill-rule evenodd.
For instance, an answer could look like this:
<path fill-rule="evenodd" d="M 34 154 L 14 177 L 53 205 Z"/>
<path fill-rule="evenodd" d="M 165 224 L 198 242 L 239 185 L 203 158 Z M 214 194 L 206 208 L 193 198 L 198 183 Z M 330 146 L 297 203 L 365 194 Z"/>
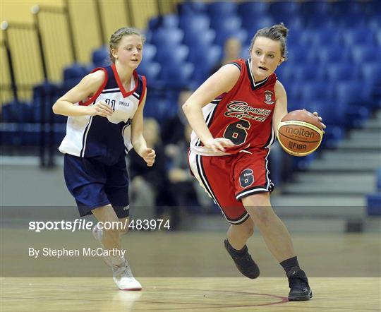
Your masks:
<path fill-rule="evenodd" d="M 236 263 L 239 272 L 248 278 L 257 278 L 260 275 L 258 265 L 251 258 L 246 245 L 243 247 L 243 251 L 239 253 L 229 244 L 227 239 L 224 240 L 224 246 L 231 258 L 233 258 L 234 263 Z"/>

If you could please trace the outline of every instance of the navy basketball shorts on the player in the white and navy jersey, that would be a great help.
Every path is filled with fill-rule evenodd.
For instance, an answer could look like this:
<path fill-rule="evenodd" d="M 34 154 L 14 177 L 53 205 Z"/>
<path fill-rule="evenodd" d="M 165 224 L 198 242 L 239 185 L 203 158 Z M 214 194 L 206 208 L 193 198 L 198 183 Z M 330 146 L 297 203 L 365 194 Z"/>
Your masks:
<path fill-rule="evenodd" d="M 128 217 L 128 173 L 124 157 L 106 165 L 94 158 L 64 155 L 63 174 L 80 216 L 111 204 L 119 218 Z"/>

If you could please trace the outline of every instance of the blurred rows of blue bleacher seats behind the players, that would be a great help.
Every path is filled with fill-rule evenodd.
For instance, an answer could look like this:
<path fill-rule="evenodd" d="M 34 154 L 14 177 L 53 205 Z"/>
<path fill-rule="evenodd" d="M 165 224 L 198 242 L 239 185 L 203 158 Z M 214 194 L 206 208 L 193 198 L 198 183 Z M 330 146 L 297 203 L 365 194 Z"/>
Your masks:
<path fill-rule="evenodd" d="M 241 40 L 242 55 L 247 57 L 246 50 L 256 30 L 284 22 L 290 28 L 289 55 L 276 73 L 286 88 L 289 110 L 306 108 L 320 112 L 329 126 L 322 145 L 334 148 L 347 128 L 361 126 L 372 109 L 381 107 L 380 11 L 378 0 L 210 4 L 183 1 L 178 15 L 152 18 L 145 30 L 147 42 L 138 72 L 147 76 L 150 89 L 161 90 L 155 96 L 148 93 L 145 114 L 158 120 L 176 114 L 174 99 L 179 88 L 198 87 L 210 76 L 212 68 L 222 59 L 222 47 L 228 37 Z M 95 49 L 89 66 L 72 64 L 64 68 L 63 83 L 53 92 L 40 86 L 32 103 L 5 104 L 3 121 L 40 122 L 42 107 L 46 109 L 45 115 L 50 116 L 52 106 L 52 101 L 42 104 L 42 92 L 56 99 L 78 83 L 89 68 L 108 62 L 107 47 Z M 54 115 L 56 124 L 63 121 L 64 118 Z M 20 133 L 19 127 L 10 127 Z M 300 166 L 313 157 L 315 153 L 301 159 Z"/>

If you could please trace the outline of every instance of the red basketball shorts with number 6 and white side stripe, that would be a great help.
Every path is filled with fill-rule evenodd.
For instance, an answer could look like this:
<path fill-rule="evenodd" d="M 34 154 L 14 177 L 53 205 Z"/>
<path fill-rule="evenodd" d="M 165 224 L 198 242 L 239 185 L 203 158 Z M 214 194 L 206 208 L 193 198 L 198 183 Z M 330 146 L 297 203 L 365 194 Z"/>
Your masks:
<path fill-rule="evenodd" d="M 245 222 L 249 215 L 242 198 L 272 192 L 274 184 L 267 169 L 270 150 L 253 154 L 239 152 L 226 156 L 201 156 L 189 152 L 191 172 L 231 224 Z"/>

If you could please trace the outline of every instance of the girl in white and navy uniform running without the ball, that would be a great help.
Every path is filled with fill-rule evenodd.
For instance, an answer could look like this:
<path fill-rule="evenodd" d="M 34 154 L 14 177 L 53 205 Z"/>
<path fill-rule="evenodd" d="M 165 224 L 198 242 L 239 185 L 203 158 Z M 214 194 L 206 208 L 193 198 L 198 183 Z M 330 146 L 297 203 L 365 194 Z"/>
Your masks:
<path fill-rule="evenodd" d="M 121 234 L 128 230 L 128 174 L 125 155 L 134 148 L 147 166 L 155 150 L 143 138 L 145 77 L 138 75 L 143 56 L 143 35 L 121 28 L 111 35 L 111 66 L 95 68 L 53 106 L 55 114 L 68 116 L 66 137 L 59 150 L 64 155 L 68 190 L 80 215 L 95 215 L 93 234 L 109 257 L 119 289 L 140 290 L 121 248 Z M 102 229 L 101 224 L 126 224 Z M 120 223 L 119 223 L 120 224 Z"/>

